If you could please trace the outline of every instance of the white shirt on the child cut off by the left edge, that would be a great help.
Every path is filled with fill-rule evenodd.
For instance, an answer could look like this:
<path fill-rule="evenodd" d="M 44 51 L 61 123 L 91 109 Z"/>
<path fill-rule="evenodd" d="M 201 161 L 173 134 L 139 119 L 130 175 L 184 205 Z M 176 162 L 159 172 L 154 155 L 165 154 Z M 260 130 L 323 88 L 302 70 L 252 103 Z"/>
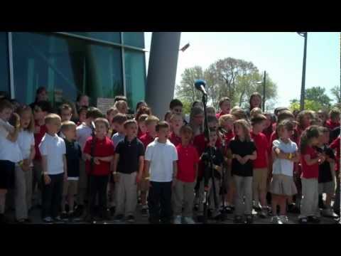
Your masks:
<path fill-rule="evenodd" d="M 13 163 L 18 163 L 23 160 L 21 150 L 18 145 L 18 141 L 11 142 L 6 139 L 9 132 L 14 129 L 9 122 L 1 120 L 1 131 L 0 132 L 0 160 L 7 160 Z M 6 136 L 5 136 L 6 135 Z"/>

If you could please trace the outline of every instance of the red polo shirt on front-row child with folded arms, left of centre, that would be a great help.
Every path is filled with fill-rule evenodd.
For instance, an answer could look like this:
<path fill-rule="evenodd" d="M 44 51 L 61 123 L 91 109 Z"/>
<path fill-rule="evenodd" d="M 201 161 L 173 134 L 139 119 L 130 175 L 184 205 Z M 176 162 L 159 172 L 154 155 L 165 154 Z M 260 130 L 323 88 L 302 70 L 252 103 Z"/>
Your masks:
<path fill-rule="evenodd" d="M 91 153 L 92 137 L 85 142 L 84 153 Z M 115 154 L 114 143 L 108 137 L 104 139 L 97 139 L 94 142 L 94 154 L 97 157 L 113 156 Z M 87 173 L 90 174 L 90 161 L 85 161 Z M 99 164 L 94 164 L 92 175 L 94 176 L 106 176 L 110 174 L 110 162 L 99 161 Z"/>

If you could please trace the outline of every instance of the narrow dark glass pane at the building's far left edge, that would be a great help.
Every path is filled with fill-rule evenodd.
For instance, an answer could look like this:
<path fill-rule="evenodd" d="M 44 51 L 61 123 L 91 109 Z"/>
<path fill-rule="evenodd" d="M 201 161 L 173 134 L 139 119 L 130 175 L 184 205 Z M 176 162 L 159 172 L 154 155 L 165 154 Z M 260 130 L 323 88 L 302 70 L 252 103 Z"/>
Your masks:
<path fill-rule="evenodd" d="M 9 48 L 6 32 L 0 32 L 0 91 L 7 92 L 9 90 Z"/>

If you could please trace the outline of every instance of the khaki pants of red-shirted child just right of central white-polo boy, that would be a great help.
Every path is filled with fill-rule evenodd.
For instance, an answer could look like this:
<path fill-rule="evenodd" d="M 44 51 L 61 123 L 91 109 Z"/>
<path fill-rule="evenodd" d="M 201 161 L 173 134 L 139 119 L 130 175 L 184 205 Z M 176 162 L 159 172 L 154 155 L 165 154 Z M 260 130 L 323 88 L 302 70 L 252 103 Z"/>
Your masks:
<path fill-rule="evenodd" d="M 184 217 L 193 217 L 195 182 L 173 181 L 173 213 Z M 184 210 L 182 210 L 184 208 Z"/>

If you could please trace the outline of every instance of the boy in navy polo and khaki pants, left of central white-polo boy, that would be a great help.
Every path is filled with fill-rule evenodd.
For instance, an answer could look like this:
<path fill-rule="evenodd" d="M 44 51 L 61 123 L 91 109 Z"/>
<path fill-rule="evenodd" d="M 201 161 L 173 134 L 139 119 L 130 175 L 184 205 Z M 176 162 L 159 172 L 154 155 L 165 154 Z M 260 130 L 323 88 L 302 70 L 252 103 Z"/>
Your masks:
<path fill-rule="evenodd" d="M 135 222 L 136 184 L 141 181 L 144 171 L 144 144 L 136 138 L 137 122 L 124 122 L 126 137 L 117 144 L 114 156 L 114 180 L 116 182 L 115 221 L 120 222 L 124 216 L 129 223 Z"/>

